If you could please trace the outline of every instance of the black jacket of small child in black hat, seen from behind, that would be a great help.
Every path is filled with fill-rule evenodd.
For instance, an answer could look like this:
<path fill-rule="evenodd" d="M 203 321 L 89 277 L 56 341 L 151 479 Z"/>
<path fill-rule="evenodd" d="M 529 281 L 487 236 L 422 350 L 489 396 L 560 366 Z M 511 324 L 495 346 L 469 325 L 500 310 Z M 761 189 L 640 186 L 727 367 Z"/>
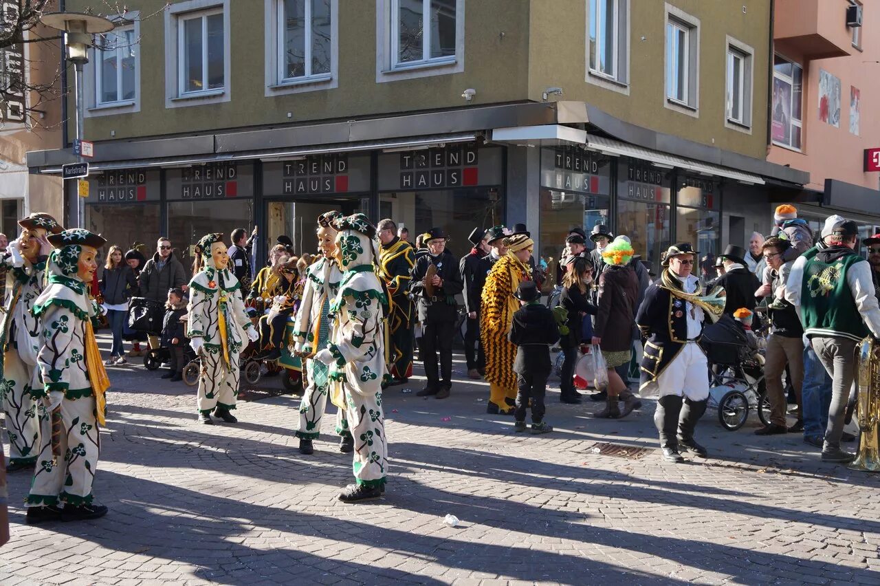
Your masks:
<path fill-rule="evenodd" d="M 559 340 L 559 328 L 546 305 L 525 304 L 513 314 L 507 336 L 517 346 L 513 371 L 519 374 L 549 374 L 550 345 Z"/>

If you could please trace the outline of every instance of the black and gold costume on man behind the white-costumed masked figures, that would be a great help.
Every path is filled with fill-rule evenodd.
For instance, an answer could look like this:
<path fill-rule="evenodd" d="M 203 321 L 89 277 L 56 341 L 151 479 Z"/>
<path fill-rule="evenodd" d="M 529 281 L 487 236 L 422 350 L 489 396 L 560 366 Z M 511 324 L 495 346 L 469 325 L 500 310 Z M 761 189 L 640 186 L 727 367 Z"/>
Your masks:
<path fill-rule="evenodd" d="M 394 238 L 388 245 L 379 245 L 379 277 L 392 302 L 386 322 L 391 347 L 388 370 L 398 382 L 413 376 L 413 302 L 407 293 L 414 266 L 415 253 L 406 240 Z"/>

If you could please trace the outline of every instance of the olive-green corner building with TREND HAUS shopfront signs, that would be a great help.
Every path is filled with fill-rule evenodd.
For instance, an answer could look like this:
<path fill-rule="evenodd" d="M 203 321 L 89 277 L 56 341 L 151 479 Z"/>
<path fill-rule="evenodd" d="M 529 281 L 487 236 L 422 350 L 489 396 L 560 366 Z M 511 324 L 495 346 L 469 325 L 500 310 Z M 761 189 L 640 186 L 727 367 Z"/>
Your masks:
<path fill-rule="evenodd" d="M 524 222 L 548 264 L 605 223 L 656 262 L 767 231 L 809 181 L 766 161 L 771 0 L 163 4 L 130 3 L 86 71 L 85 218 L 115 244 L 187 256 L 253 223 L 259 256 L 280 234 L 310 251 L 330 207 L 441 226 L 456 253 Z"/>

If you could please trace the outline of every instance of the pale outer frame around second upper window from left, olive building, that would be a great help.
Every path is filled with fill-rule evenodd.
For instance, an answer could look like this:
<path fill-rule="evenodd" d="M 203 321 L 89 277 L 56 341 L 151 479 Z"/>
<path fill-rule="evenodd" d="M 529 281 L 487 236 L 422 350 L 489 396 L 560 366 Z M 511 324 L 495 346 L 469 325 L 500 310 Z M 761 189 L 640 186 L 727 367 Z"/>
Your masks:
<path fill-rule="evenodd" d="M 165 107 L 201 106 L 231 100 L 231 27 L 229 0 L 185 0 L 171 4 L 165 13 Z M 201 92 L 181 92 L 183 84 L 183 22 L 190 18 L 223 14 L 224 32 L 224 86 Z M 207 38 L 205 52 L 207 55 Z M 208 74 L 204 66 L 204 75 Z"/>

